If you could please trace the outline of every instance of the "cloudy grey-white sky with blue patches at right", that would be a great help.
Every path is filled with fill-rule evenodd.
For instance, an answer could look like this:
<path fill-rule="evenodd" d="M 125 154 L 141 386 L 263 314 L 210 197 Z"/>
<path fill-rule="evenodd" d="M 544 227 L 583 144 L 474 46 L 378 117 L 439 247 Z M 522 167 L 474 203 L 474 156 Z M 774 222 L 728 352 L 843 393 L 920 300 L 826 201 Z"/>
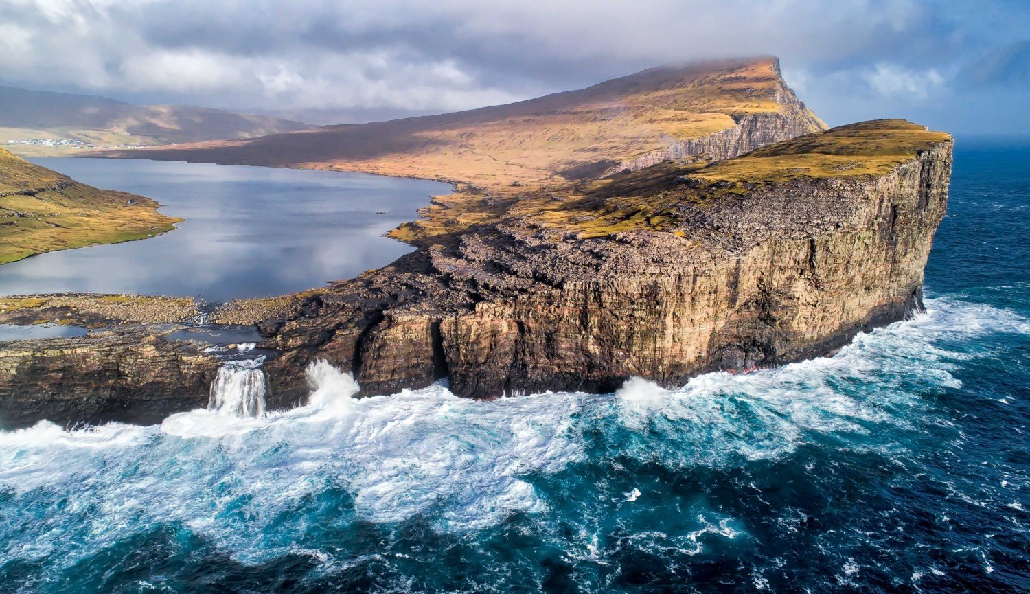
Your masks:
<path fill-rule="evenodd" d="M 1030 0 L 0 1 L 0 83 L 313 124 L 758 55 L 831 126 L 1030 135 Z"/>

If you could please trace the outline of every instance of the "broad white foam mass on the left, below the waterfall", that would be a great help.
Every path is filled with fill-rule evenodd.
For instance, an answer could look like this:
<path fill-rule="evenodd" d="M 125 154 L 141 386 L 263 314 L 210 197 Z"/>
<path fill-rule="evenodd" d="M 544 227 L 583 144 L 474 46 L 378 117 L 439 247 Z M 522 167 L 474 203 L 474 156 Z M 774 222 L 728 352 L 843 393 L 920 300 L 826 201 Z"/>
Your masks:
<path fill-rule="evenodd" d="M 160 427 L 64 430 L 44 422 L 0 432 L 0 488 L 74 489 L 79 504 L 103 511 L 79 536 L 93 550 L 133 526 L 180 521 L 241 559 L 260 559 L 291 537 L 263 528 L 327 488 L 349 493 L 358 518 L 423 515 L 438 530 L 464 531 L 544 510 L 522 477 L 583 454 L 572 426 L 577 398 L 484 403 L 433 386 L 354 399 L 349 374 L 320 362 L 308 377 L 308 406 L 261 418 L 197 410 Z M 53 546 L 34 545 L 40 554 Z"/>

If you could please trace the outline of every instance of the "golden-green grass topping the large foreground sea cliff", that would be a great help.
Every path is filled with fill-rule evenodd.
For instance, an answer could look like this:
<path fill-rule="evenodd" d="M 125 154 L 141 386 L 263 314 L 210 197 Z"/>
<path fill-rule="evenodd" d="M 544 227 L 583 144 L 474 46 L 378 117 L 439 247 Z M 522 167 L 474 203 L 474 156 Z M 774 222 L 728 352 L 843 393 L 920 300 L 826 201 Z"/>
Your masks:
<path fill-rule="evenodd" d="M 665 162 L 590 183 L 529 191 L 511 200 L 475 196 L 439 200 L 423 220 L 393 237 L 446 243 L 477 224 L 509 219 L 521 224 L 604 237 L 631 230 L 674 232 L 680 206 L 703 207 L 798 179 L 853 178 L 890 173 L 920 152 L 951 142 L 951 135 L 902 119 L 879 119 L 816 132 L 720 162 Z"/>

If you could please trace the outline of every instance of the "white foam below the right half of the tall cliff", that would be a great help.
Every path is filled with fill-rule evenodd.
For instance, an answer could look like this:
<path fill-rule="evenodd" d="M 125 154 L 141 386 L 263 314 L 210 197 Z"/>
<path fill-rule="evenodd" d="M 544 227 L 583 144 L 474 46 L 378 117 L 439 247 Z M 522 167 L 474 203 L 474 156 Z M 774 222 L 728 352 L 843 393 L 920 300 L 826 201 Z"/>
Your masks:
<path fill-rule="evenodd" d="M 914 413 L 926 407 L 912 387 L 930 392 L 960 387 L 951 373 L 956 361 L 977 356 L 938 343 L 1030 334 L 1030 320 L 1008 310 L 952 300 L 927 305 L 928 314 L 861 334 L 832 357 L 744 375 L 706 374 L 672 390 L 632 378 L 616 392 L 620 421 L 678 440 L 664 460 L 682 465 L 776 457 L 814 434 L 862 435 L 885 423 L 908 426 Z M 646 445 L 637 454 L 661 457 Z"/>

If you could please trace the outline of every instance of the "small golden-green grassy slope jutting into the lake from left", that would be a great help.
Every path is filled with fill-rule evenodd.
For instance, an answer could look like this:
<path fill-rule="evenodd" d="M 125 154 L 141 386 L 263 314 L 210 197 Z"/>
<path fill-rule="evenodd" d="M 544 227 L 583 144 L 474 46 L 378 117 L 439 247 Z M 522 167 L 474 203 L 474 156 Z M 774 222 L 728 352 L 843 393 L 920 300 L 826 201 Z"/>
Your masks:
<path fill-rule="evenodd" d="M 0 264 L 167 233 L 182 219 L 161 214 L 160 206 L 79 183 L 0 148 Z"/>

